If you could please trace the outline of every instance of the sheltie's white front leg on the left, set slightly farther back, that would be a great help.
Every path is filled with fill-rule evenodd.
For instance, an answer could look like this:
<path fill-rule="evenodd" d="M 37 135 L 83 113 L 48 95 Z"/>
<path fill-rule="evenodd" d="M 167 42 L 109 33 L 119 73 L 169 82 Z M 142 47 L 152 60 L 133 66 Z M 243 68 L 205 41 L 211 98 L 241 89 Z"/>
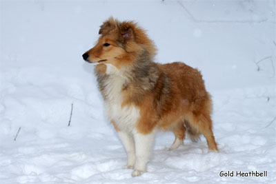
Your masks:
<path fill-rule="evenodd" d="M 128 154 L 128 165 L 124 166 L 124 168 L 132 169 L 135 164 L 135 143 L 133 136 L 123 131 L 119 131 L 118 134 L 124 144 L 126 154 Z"/>

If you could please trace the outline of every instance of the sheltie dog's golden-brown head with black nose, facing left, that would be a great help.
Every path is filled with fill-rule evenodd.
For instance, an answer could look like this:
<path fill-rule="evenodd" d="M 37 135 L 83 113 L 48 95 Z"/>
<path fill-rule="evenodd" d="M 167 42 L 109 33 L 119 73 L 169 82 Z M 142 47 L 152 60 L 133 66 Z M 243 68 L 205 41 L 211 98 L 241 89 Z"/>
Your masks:
<path fill-rule="evenodd" d="M 99 34 L 94 48 L 82 56 L 89 63 L 109 63 L 119 70 L 123 65 L 132 65 L 144 50 L 149 53 L 150 59 L 155 56 L 154 43 L 132 21 L 119 22 L 110 17 L 101 25 Z"/>

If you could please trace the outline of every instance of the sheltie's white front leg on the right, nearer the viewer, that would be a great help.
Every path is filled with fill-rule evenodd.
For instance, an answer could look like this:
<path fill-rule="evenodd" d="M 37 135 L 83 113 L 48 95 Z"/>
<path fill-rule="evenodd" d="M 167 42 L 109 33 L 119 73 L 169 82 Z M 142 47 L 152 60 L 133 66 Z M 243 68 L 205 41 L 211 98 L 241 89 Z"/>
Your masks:
<path fill-rule="evenodd" d="M 150 134 L 133 134 L 135 139 L 135 167 L 132 176 L 140 176 L 146 171 L 146 164 L 150 159 L 152 145 L 155 141 L 156 131 L 153 130 Z"/>

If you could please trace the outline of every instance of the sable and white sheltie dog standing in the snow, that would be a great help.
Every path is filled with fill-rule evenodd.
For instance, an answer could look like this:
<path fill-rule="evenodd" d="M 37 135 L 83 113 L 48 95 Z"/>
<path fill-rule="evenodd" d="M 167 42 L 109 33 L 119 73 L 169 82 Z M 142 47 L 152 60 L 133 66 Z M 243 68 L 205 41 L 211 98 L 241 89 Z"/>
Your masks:
<path fill-rule="evenodd" d="M 110 17 L 99 34 L 82 57 L 96 64 L 106 114 L 124 144 L 132 176 L 146 171 L 157 130 L 175 134 L 169 150 L 184 143 L 187 130 L 193 141 L 203 134 L 209 150 L 217 151 L 212 101 L 197 69 L 181 62 L 155 63 L 155 44 L 133 21 Z"/>

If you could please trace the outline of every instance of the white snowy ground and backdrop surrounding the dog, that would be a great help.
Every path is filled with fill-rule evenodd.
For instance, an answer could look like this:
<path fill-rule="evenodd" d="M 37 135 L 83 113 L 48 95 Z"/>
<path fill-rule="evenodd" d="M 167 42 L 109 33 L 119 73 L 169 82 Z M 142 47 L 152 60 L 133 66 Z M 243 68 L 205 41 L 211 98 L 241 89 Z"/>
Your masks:
<path fill-rule="evenodd" d="M 0 183 L 276 183 L 275 1 L 2 1 Z M 113 16 L 135 20 L 156 61 L 201 70 L 219 153 L 205 139 L 168 152 L 157 135 L 148 172 L 132 178 L 81 55 Z M 68 127 L 71 103 L 72 121 Z M 14 141 L 14 136 L 21 131 Z M 220 177 L 220 171 L 268 171 Z"/>

